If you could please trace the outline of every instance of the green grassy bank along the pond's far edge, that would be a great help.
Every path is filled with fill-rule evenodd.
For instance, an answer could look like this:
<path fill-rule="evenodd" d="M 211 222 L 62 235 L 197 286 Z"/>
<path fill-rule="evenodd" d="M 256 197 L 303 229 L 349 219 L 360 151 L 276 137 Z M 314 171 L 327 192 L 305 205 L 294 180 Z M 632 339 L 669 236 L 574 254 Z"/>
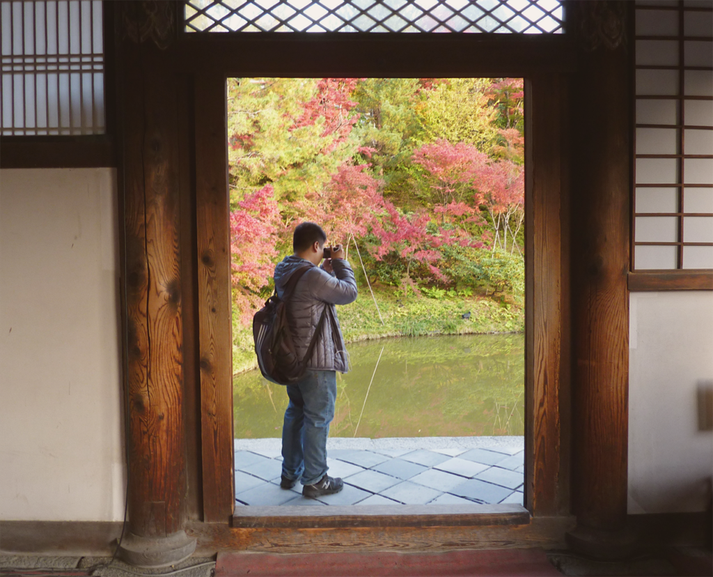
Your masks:
<path fill-rule="evenodd" d="M 374 287 L 379 312 L 369 287 L 359 287 L 359 298 L 351 305 L 337 307 L 339 324 L 347 342 L 381 337 L 421 335 L 468 335 L 473 333 L 522 332 L 524 310 L 504 297 L 455 297 L 396 299 L 392 287 Z M 471 317 L 463 319 L 463 313 Z M 257 367 L 252 343 L 252 327 L 242 327 L 233 312 L 232 369 L 237 374 Z"/>

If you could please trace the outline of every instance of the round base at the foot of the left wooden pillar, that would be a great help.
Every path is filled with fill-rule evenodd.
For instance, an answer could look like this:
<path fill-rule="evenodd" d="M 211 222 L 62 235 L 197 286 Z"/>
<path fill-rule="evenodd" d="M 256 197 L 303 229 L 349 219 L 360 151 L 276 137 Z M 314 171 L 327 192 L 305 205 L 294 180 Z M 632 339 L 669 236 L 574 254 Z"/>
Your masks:
<path fill-rule="evenodd" d="M 168 537 L 139 537 L 128 533 L 121 541 L 119 556 L 136 567 L 168 567 L 195 551 L 196 540 L 178 531 Z"/>

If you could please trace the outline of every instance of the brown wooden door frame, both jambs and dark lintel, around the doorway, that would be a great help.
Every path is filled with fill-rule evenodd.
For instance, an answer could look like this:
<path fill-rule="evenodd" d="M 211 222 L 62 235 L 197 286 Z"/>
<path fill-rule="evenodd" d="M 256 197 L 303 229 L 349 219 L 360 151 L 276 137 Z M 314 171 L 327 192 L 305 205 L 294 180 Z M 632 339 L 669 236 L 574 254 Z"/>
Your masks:
<path fill-rule="evenodd" d="M 525 507 L 533 517 L 568 515 L 566 73 L 575 66 L 570 41 L 562 36 L 485 41 L 447 35 L 183 36 L 177 62 L 193 78 L 185 100 L 194 119 L 189 148 L 194 153 L 195 213 L 186 216 L 195 223 L 195 270 L 188 280 L 197 286 L 193 332 L 200 458 L 194 456 L 193 463 L 202 471 L 202 498 L 197 497 L 200 504 L 192 509 L 202 512 L 198 518 L 226 523 L 235 507 L 225 103 L 230 76 L 525 78 Z M 186 326 L 188 330 L 190 320 Z"/>

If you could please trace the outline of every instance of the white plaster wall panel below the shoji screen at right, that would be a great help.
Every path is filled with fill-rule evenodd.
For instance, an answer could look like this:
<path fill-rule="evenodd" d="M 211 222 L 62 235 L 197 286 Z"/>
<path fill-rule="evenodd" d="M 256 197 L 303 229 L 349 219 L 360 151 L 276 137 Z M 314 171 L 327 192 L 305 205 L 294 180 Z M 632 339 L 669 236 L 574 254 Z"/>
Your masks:
<path fill-rule="evenodd" d="M 631 293 L 630 514 L 704 511 L 712 499 L 701 387 L 713 387 L 713 291 Z"/>

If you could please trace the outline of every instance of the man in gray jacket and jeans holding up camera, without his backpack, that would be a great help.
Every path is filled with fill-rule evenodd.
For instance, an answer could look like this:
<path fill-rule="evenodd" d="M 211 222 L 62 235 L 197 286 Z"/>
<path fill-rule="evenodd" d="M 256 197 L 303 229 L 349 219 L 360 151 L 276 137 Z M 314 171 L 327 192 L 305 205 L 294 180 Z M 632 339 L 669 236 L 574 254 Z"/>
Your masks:
<path fill-rule="evenodd" d="M 299 359 L 307 352 L 324 311 L 312 357 L 306 359 L 307 375 L 287 385 L 289 404 L 282 427 L 282 489 L 302 481 L 302 495 L 314 499 L 342 490 L 342 479 L 327 475 L 327 435 L 337 399 L 337 371 L 347 372 L 349 359 L 334 305 L 356 300 L 356 281 L 342 245 L 332 247 L 331 258 L 322 262 L 327 235 L 319 225 L 302 223 L 294 229 L 294 254 L 275 267 L 275 287 L 282 297 L 289 277 L 302 267 L 309 270 L 294 287 L 287 320 Z M 326 309 L 326 310 L 325 310 Z"/>

